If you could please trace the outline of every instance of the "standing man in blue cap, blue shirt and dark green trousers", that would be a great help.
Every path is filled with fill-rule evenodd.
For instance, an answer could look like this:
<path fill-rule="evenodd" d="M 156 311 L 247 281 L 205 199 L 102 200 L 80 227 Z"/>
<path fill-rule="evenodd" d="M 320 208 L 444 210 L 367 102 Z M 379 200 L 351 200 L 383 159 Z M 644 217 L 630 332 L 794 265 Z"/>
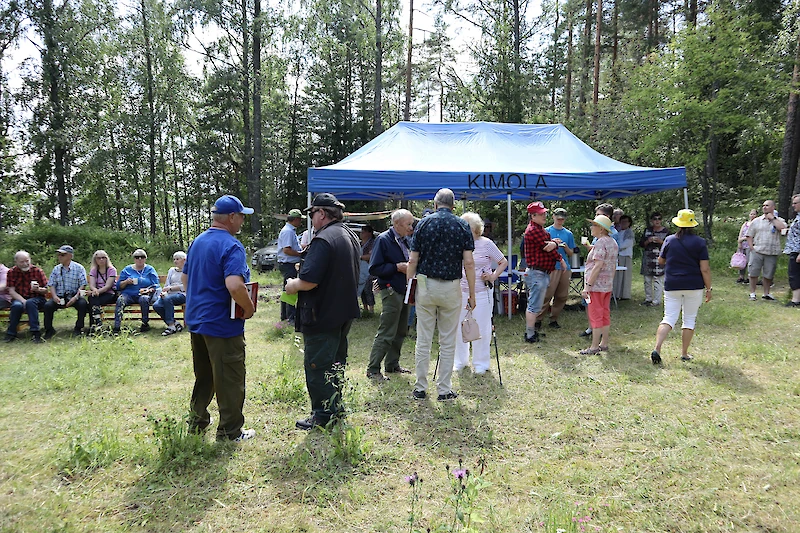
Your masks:
<path fill-rule="evenodd" d="M 245 286 L 250 281 L 247 256 L 234 235 L 253 209 L 226 194 L 214 203 L 211 212 L 211 227 L 189 247 L 181 276 L 195 375 L 189 426 L 200 432 L 211 425 L 208 404 L 216 393 L 217 440 L 241 442 L 256 435 L 253 429 L 242 429 L 244 319 L 253 316 L 255 308 Z M 230 317 L 231 299 L 244 309 L 243 318 Z"/>

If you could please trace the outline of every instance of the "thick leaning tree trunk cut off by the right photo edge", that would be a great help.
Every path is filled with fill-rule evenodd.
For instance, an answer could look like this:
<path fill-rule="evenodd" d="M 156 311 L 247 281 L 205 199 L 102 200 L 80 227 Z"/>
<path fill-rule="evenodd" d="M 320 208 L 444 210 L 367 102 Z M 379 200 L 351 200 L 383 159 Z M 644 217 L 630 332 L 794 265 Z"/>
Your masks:
<path fill-rule="evenodd" d="M 800 30 L 797 32 L 795 42 L 794 71 L 792 83 L 789 87 L 789 104 L 786 110 L 786 130 L 783 134 L 783 148 L 781 149 L 781 167 L 778 186 L 778 212 L 791 217 L 794 211 L 791 206 L 791 196 L 800 187 L 795 176 L 798 168 L 798 152 L 800 152 L 800 138 L 797 131 L 800 128 Z"/>

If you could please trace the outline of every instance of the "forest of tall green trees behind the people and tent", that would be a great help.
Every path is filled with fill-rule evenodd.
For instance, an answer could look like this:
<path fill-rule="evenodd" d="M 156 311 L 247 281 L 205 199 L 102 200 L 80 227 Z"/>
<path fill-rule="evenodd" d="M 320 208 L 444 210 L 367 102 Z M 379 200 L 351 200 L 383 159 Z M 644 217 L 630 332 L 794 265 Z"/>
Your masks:
<path fill-rule="evenodd" d="M 800 0 L 538 2 L 0 0 L 0 227 L 183 247 L 234 193 L 259 245 L 305 205 L 308 167 L 399 120 L 560 122 L 621 161 L 685 166 L 707 237 L 720 202 L 759 191 L 789 216 Z M 12 64 L 23 41 L 40 57 Z M 479 211 L 505 234 L 504 205 Z"/>

